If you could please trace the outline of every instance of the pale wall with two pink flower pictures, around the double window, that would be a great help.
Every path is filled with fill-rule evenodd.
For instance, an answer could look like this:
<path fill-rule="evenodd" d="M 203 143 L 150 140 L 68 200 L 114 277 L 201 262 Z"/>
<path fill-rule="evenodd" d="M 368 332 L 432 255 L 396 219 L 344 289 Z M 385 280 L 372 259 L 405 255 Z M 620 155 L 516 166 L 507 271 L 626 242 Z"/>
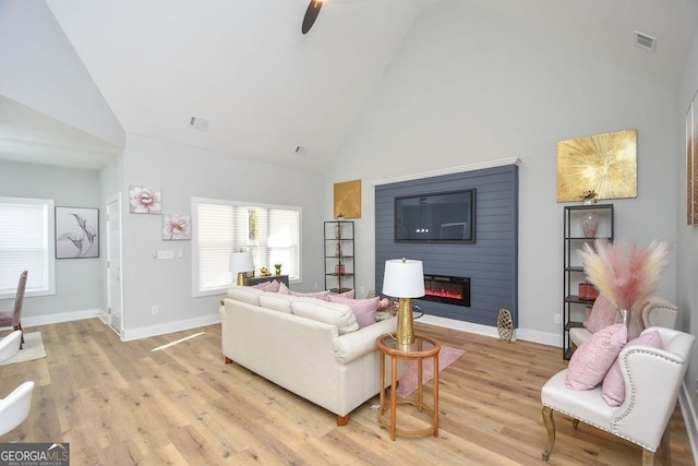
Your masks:
<path fill-rule="evenodd" d="M 189 131 L 182 129 L 182 131 Z M 220 296 L 192 297 L 191 241 L 163 241 L 161 216 L 129 213 L 130 184 L 159 188 L 163 213 L 190 214 L 191 198 L 302 207 L 302 274 L 298 290 L 324 286 L 322 182 L 317 174 L 129 134 L 123 156 L 123 315 L 125 338 L 217 322 Z M 195 227 L 195 226 L 194 226 Z M 182 249 L 183 258 L 154 260 L 153 250 Z M 177 254 L 176 254 L 177 255 Z M 151 307 L 159 308 L 158 314 Z"/>

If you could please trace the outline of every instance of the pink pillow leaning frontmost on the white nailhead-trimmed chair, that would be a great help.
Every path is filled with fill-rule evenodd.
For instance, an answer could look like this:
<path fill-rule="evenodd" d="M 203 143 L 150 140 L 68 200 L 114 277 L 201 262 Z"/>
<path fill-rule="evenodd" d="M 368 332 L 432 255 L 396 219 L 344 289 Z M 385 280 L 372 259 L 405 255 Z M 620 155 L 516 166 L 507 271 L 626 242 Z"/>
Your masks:
<path fill-rule="evenodd" d="M 565 385 L 571 390 L 589 390 L 600 384 L 627 338 L 623 324 L 613 324 L 591 335 L 571 355 Z"/>

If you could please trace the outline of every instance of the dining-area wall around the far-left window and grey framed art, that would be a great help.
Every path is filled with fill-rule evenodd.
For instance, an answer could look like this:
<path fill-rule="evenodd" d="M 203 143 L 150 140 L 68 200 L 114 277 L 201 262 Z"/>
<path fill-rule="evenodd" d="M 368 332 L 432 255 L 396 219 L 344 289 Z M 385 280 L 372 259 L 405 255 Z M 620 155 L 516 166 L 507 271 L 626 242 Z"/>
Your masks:
<path fill-rule="evenodd" d="M 100 208 L 99 234 L 104 236 L 97 171 L 0 160 L 0 195 L 52 199 L 57 207 Z M 104 242 L 99 248 L 104 255 Z M 99 259 L 57 260 L 56 295 L 25 298 L 24 325 L 65 319 L 57 314 L 95 315 L 101 302 L 100 263 Z M 11 307 L 12 299 L 0 300 L 0 310 Z"/>

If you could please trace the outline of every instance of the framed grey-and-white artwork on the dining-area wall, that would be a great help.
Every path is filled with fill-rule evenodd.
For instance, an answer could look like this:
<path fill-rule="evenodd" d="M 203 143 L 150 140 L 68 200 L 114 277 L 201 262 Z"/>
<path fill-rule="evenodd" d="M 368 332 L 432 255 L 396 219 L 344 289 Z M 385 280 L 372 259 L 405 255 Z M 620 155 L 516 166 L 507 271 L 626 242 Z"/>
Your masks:
<path fill-rule="evenodd" d="M 56 207 L 56 259 L 99 258 L 99 210 Z"/>

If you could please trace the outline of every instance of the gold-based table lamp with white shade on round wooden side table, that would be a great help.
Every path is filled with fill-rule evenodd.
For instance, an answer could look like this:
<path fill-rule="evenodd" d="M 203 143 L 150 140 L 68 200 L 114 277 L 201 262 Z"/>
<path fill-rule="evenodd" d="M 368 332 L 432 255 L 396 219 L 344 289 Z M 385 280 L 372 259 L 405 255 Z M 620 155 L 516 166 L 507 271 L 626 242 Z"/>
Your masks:
<path fill-rule="evenodd" d="M 395 338 L 398 346 L 407 347 L 414 343 L 411 298 L 424 296 L 422 261 L 407 260 L 405 258 L 385 261 L 383 294 L 399 298 Z"/>

